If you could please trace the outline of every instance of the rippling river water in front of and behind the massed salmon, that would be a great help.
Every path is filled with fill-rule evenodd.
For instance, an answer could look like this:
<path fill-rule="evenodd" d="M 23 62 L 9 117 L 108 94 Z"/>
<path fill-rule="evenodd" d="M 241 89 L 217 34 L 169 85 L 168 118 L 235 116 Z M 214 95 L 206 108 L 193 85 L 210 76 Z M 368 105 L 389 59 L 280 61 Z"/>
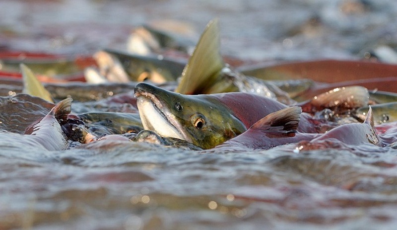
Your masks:
<path fill-rule="evenodd" d="M 131 30 L 148 21 L 185 21 L 198 37 L 214 17 L 220 19 L 222 53 L 256 62 L 361 59 L 377 45 L 395 48 L 397 37 L 394 0 L 2 0 L 0 48 L 91 54 L 125 48 Z M 29 109 L 16 110 L 7 130 L 22 132 L 26 120 L 49 110 L 24 106 Z M 397 225 L 392 149 L 296 153 L 282 146 L 217 153 L 114 142 L 51 152 L 11 140 L 0 140 L 1 230 Z"/>

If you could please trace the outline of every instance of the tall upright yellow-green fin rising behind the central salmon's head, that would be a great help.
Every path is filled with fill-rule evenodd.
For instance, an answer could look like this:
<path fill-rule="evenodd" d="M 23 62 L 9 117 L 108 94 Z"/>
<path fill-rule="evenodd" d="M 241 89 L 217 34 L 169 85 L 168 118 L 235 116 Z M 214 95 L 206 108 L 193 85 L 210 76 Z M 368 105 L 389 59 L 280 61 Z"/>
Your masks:
<path fill-rule="evenodd" d="M 219 22 L 215 18 L 208 22 L 202 33 L 175 92 L 196 94 L 195 91 L 200 91 L 206 85 L 212 84 L 224 67 L 219 49 Z"/>

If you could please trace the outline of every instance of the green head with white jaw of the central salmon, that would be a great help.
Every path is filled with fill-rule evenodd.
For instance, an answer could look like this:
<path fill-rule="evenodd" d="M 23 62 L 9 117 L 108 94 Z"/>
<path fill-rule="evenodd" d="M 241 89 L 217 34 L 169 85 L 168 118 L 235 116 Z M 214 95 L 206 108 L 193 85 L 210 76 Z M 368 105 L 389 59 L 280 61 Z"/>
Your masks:
<path fill-rule="evenodd" d="M 134 91 L 143 127 L 160 136 L 210 149 L 246 130 L 231 110 L 211 95 L 184 95 L 147 83 L 138 83 Z"/>

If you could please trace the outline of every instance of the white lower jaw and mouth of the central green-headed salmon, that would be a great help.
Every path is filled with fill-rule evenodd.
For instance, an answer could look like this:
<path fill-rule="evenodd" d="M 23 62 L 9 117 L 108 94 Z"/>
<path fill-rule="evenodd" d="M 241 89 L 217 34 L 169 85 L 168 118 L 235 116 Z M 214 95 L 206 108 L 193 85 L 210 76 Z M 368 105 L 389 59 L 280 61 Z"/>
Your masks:
<path fill-rule="evenodd" d="M 177 122 L 169 108 L 161 103 L 155 94 L 140 88 L 140 84 L 145 83 L 139 83 L 135 86 L 134 96 L 136 97 L 136 105 L 143 128 L 154 131 L 163 137 L 178 138 L 191 142 L 192 140 L 185 135 L 182 125 Z"/>

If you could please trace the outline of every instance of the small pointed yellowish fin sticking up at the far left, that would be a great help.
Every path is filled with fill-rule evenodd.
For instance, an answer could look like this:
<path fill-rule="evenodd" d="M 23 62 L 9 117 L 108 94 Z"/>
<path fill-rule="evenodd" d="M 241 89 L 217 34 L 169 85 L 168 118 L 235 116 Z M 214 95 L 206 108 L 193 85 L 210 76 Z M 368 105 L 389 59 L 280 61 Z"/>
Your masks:
<path fill-rule="evenodd" d="M 54 100 L 49 91 L 41 84 L 37 77 L 33 74 L 25 64 L 20 64 L 23 80 L 23 93 L 31 96 L 40 97 L 46 101 L 54 103 Z"/>

